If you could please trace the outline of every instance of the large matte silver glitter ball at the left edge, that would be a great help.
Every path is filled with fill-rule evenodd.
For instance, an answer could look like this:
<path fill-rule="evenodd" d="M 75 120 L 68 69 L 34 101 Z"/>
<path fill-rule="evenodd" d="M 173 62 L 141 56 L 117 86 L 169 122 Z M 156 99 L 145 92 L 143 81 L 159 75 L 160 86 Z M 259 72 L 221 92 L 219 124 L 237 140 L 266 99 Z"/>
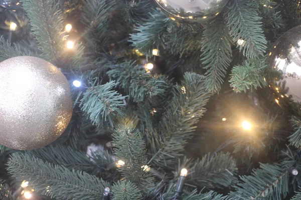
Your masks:
<path fill-rule="evenodd" d="M 50 62 L 18 56 L 0 62 L 0 143 L 25 150 L 57 139 L 70 122 L 68 81 Z"/>

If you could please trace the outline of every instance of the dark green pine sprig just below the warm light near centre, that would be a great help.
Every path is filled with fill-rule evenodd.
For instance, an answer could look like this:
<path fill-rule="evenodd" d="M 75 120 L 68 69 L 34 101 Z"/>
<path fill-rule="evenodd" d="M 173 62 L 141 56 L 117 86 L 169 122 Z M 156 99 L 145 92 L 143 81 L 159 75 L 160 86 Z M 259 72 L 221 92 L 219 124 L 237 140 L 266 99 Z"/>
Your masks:
<path fill-rule="evenodd" d="M 132 61 L 111 66 L 107 74 L 126 89 L 129 98 L 135 102 L 156 95 L 164 96 L 170 88 L 170 81 L 166 76 L 147 73 L 142 66 L 134 65 Z"/>

